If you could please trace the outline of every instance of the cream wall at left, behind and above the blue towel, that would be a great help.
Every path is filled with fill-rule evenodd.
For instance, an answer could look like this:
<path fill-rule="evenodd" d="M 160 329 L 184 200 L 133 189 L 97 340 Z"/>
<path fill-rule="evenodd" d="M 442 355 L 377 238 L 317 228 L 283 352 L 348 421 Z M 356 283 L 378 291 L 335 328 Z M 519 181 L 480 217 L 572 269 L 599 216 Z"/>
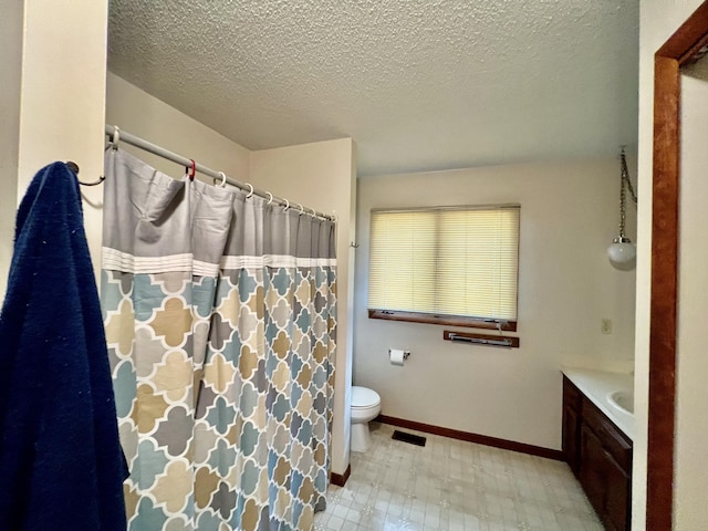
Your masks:
<path fill-rule="evenodd" d="M 106 0 L 7 3 L 0 22 L 2 295 L 14 212 L 34 174 L 54 160 L 75 160 L 82 175 L 103 167 L 107 20 Z M 86 225 L 93 221 L 87 211 Z"/>

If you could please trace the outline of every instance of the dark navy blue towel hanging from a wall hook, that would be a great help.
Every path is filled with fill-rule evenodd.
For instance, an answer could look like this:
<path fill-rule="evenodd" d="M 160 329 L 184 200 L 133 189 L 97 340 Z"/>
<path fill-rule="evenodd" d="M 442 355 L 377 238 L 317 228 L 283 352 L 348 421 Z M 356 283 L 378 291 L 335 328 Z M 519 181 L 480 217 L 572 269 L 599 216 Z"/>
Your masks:
<path fill-rule="evenodd" d="M 125 531 L 115 402 L 76 176 L 42 168 L 0 313 L 0 530 Z"/>

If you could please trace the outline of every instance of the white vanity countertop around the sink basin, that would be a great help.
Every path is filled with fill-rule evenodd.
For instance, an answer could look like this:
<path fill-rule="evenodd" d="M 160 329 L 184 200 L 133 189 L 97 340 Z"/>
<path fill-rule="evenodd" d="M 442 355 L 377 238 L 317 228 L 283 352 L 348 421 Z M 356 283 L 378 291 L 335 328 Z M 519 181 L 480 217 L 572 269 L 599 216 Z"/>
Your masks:
<path fill-rule="evenodd" d="M 568 379 L 591 399 L 615 425 L 634 440 L 634 415 L 615 407 L 608 399 L 611 393 L 624 391 L 632 393 L 634 376 L 627 373 L 610 373 L 579 367 L 563 367 L 561 371 Z"/>

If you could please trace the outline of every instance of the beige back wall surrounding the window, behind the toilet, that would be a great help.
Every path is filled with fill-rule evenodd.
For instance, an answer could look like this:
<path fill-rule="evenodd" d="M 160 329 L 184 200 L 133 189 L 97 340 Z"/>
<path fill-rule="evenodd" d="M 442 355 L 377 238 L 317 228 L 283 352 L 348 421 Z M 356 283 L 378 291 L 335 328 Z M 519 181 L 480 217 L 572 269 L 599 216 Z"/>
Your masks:
<path fill-rule="evenodd" d="M 354 385 L 377 391 L 385 415 L 560 449 L 561 365 L 632 366 L 635 274 L 605 252 L 618 187 L 617 159 L 360 179 Z M 507 202 L 521 205 L 520 348 L 451 344 L 446 326 L 367 317 L 372 208 Z M 405 366 L 389 364 L 388 348 L 410 350 Z"/>

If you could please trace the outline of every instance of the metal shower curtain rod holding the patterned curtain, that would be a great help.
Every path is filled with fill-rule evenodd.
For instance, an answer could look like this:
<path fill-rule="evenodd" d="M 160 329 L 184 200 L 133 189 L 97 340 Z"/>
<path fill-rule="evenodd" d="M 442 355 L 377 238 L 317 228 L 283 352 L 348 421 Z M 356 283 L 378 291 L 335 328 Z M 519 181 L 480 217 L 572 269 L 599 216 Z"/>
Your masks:
<path fill-rule="evenodd" d="M 117 131 L 117 135 L 116 135 L 116 131 Z M 168 160 L 171 160 L 173 163 L 177 163 L 181 166 L 185 167 L 190 167 L 192 166 L 192 160 L 187 158 L 187 157 L 183 157 L 181 155 L 177 155 L 176 153 L 173 153 L 168 149 L 165 149 L 164 147 L 160 147 L 156 144 L 153 144 L 152 142 L 145 140 L 138 136 L 132 135 L 131 133 L 126 133 L 123 129 L 121 129 L 119 127 L 115 126 L 115 125 L 108 125 L 106 124 L 106 135 L 111 138 L 111 142 L 115 142 L 116 144 L 119 144 L 121 142 L 125 142 L 126 144 L 131 144 L 132 146 L 138 147 L 143 150 L 149 152 L 154 155 L 158 155 L 163 158 L 166 158 Z M 219 171 L 215 171 L 211 168 L 208 168 L 206 166 L 204 166 L 202 164 L 199 163 L 194 163 L 194 167 L 197 171 L 199 171 L 200 174 L 204 174 L 208 177 L 211 177 L 212 179 L 221 179 L 225 177 L 223 174 L 220 174 Z M 280 197 L 274 197 L 270 191 L 266 191 L 266 190 L 260 190 L 258 188 L 256 188 L 254 186 L 250 185 L 249 183 L 240 183 L 236 179 L 232 179 L 230 177 L 226 177 L 226 181 L 231 185 L 235 186 L 237 188 L 240 188 L 241 190 L 248 190 L 249 194 L 254 194 L 259 197 L 262 197 L 264 199 L 268 199 L 269 202 L 274 202 L 277 205 L 281 205 L 283 207 L 289 207 L 292 208 L 294 210 L 300 210 L 301 205 L 298 202 L 293 202 L 291 204 L 288 199 L 282 199 Z M 323 218 L 326 219 L 329 221 L 336 221 L 334 216 L 327 215 L 327 214 L 322 214 L 322 212 L 317 212 L 316 210 L 314 210 L 313 208 L 305 208 L 302 207 L 302 212 L 301 214 L 306 214 L 309 216 L 315 216 L 317 218 Z"/>

